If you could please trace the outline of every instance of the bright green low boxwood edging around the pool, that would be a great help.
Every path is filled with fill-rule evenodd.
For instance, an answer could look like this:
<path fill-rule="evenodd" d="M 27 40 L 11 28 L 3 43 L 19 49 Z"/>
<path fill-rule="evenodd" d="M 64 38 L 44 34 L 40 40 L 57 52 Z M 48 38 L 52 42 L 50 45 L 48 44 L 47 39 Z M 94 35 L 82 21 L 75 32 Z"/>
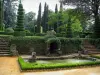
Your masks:
<path fill-rule="evenodd" d="M 39 64 L 39 63 L 29 63 L 24 62 L 23 58 L 18 58 L 20 67 L 22 71 L 27 70 L 50 70 L 50 69 L 62 69 L 62 68 L 75 68 L 75 67 L 84 67 L 84 66 L 93 66 L 100 65 L 100 61 L 93 62 L 81 62 L 81 63 L 56 63 L 56 64 Z"/>

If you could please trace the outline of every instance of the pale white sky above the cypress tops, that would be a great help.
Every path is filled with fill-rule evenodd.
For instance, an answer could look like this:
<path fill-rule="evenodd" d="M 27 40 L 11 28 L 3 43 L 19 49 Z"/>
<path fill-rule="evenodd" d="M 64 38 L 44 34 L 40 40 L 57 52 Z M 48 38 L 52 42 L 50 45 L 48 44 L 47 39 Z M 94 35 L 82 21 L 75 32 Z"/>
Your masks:
<path fill-rule="evenodd" d="M 23 7 L 25 9 L 25 13 L 33 11 L 38 14 L 39 4 L 42 4 L 42 12 L 44 10 L 45 2 L 49 5 L 49 9 L 55 10 L 55 5 L 58 4 L 58 8 L 60 7 L 59 0 L 22 0 Z M 70 6 L 67 6 L 67 8 Z"/>

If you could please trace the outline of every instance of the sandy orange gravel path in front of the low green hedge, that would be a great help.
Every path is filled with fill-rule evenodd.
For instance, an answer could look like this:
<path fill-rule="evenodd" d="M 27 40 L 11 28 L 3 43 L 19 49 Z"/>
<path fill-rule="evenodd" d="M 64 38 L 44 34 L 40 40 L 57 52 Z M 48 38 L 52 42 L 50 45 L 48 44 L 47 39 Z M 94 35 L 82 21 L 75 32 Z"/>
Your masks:
<path fill-rule="evenodd" d="M 17 57 L 0 57 L 0 75 L 100 75 L 100 66 L 52 72 L 20 72 Z"/>

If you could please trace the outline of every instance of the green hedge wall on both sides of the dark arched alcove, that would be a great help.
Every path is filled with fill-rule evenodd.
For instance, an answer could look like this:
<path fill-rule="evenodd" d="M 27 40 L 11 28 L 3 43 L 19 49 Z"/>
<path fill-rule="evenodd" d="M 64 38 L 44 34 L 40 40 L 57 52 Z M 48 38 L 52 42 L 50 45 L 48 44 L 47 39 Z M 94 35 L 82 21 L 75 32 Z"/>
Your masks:
<path fill-rule="evenodd" d="M 62 54 L 75 53 L 81 50 L 81 39 L 57 39 L 60 39 Z M 46 38 L 41 36 L 13 37 L 10 43 L 17 45 L 20 54 L 30 54 L 30 48 L 33 47 L 37 55 L 44 55 L 47 49 Z"/>

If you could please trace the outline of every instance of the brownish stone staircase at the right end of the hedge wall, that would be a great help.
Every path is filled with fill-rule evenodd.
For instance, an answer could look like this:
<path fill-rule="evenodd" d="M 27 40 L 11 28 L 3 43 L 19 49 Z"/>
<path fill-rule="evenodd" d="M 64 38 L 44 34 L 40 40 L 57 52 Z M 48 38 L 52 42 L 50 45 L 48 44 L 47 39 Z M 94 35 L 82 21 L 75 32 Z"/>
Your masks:
<path fill-rule="evenodd" d="M 94 45 L 90 44 L 88 40 L 84 40 L 83 46 L 87 51 L 87 54 L 100 54 L 100 50 L 97 49 Z"/>

